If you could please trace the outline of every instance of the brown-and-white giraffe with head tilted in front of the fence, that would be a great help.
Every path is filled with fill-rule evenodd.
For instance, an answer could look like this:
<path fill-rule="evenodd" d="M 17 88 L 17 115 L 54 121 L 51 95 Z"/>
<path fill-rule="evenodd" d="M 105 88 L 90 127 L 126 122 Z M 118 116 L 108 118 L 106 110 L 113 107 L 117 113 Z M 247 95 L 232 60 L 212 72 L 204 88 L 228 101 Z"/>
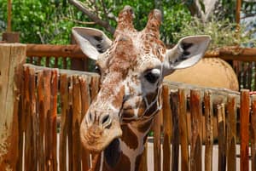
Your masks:
<path fill-rule="evenodd" d="M 97 171 L 137 171 L 154 116 L 160 110 L 163 77 L 193 66 L 205 54 L 211 38 L 182 38 L 172 49 L 160 41 L 160 10 L 148 14 L 137 31 L 133 11 L 125 6 L 111 41 L 102 31 L 73 27 L 73 37 L 96 60 L 101 88 L 80 126 L 84 148 L 99 155 Z"/>

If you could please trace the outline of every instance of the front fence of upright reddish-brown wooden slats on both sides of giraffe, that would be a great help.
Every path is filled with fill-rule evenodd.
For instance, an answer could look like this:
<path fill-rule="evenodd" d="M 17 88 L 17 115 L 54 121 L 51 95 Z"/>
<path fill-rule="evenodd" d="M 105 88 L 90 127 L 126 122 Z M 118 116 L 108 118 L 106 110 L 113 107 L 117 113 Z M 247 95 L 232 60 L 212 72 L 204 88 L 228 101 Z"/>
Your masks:
<path fill-rule="evenodd" d="M 0 127 L 0 170 L 90 168 L 90 154 L 80 145 L 79 124 L 97 94 L 98 75 L 28 64 L 18 70 L 26 58 L 25 48 L 9 47 L 8 51 L 3 46 L 9 45 L 0 44 L 0 97 L 2 102 L 14 101 L 8 105 L 12 110 L 4 111 L 6 106 L 0 105 L 0 125 L 6 125 Z M 15 94 L 6 96 L 3 89 L 9 86 Z M 218 161 L 218 170 L 256 171 L 256 98 L 248 90 L 239 93 L 165 83 L 163 109 L 155 117 L 153 131 L 154 166 L 148 163 L 147 153 L 152 151 L 148 140 L 140 170 L 150 166 L 148 170 L 154 171 L 210 171 Z M 9 141 L 4 137 L 10 137 Z M 218 157 L 213 157 L 216 145 Z M 236 168 L 237 158 L 240 168 Z"/>

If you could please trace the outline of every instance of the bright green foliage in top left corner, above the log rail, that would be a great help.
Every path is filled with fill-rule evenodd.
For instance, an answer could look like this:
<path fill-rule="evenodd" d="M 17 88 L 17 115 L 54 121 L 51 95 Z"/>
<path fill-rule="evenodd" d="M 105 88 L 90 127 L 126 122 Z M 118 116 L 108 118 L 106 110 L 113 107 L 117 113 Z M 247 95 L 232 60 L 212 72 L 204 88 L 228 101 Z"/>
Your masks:
<path fill-rule="evenodd" d="M 0 19 L 7 22 L 7 1 L 0 0 Z M 84 15 L 67 4 L 66 0 L 13 0 L 12 31 L 20 32 L 21 43 L 70 43 L 72 20 L 87 20 Z M 6 25 L 0 24 L 0 32 Z"/>

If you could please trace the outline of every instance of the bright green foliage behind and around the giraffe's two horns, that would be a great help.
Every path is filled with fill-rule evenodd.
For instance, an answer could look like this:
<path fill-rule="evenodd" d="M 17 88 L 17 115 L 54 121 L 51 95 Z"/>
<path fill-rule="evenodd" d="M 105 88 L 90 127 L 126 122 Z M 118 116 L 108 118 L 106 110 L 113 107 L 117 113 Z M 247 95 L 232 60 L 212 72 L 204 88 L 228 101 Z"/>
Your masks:
<path fill-rule="evenodd" d="M 180 31 L 183 27 L 184 21 L 190 20 L 189 10 L 182 3 L 182 0 L 110 0 L 105 2 L 107 9 L 111 11 L 114 16 L 118 16 L 119 11 L 125 7 L 125 5 L 130 5 L 136 18 L 134 19 L 134 26 L 138 31 L 143 30 L 148 21 L 148 14 L 152 9 L 160 9 L 163 13 L 163 23 L 160 28 L 161 39 L 165 43 L 173 43 L 173 32 Z M 90 9 L 97 9 L 98 11 L 103 11 L 102 3 L 96 1 L 96 3 L 90 3 L 90 1 L 84 1 L 84 4 Z M 99 12 L 102 20 L 108 20 L 110 25 L 115 27 L 116 21 L 110 20 L 104 12 Z M 108 36 L 111 36 L 108 34 Z"/>

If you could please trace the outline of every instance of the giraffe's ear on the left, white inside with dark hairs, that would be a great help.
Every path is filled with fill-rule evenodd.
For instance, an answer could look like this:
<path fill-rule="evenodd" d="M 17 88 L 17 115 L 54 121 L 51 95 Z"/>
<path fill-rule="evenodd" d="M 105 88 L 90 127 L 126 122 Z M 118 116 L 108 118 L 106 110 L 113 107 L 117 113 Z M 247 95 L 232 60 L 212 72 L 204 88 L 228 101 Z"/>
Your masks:
<path fill-rule="evenodd" d="M 73 27 L 72 34 L 83 53 L 92 60 L 97 60 L 112 43 L 102 31 L 93 28 Z"/>

